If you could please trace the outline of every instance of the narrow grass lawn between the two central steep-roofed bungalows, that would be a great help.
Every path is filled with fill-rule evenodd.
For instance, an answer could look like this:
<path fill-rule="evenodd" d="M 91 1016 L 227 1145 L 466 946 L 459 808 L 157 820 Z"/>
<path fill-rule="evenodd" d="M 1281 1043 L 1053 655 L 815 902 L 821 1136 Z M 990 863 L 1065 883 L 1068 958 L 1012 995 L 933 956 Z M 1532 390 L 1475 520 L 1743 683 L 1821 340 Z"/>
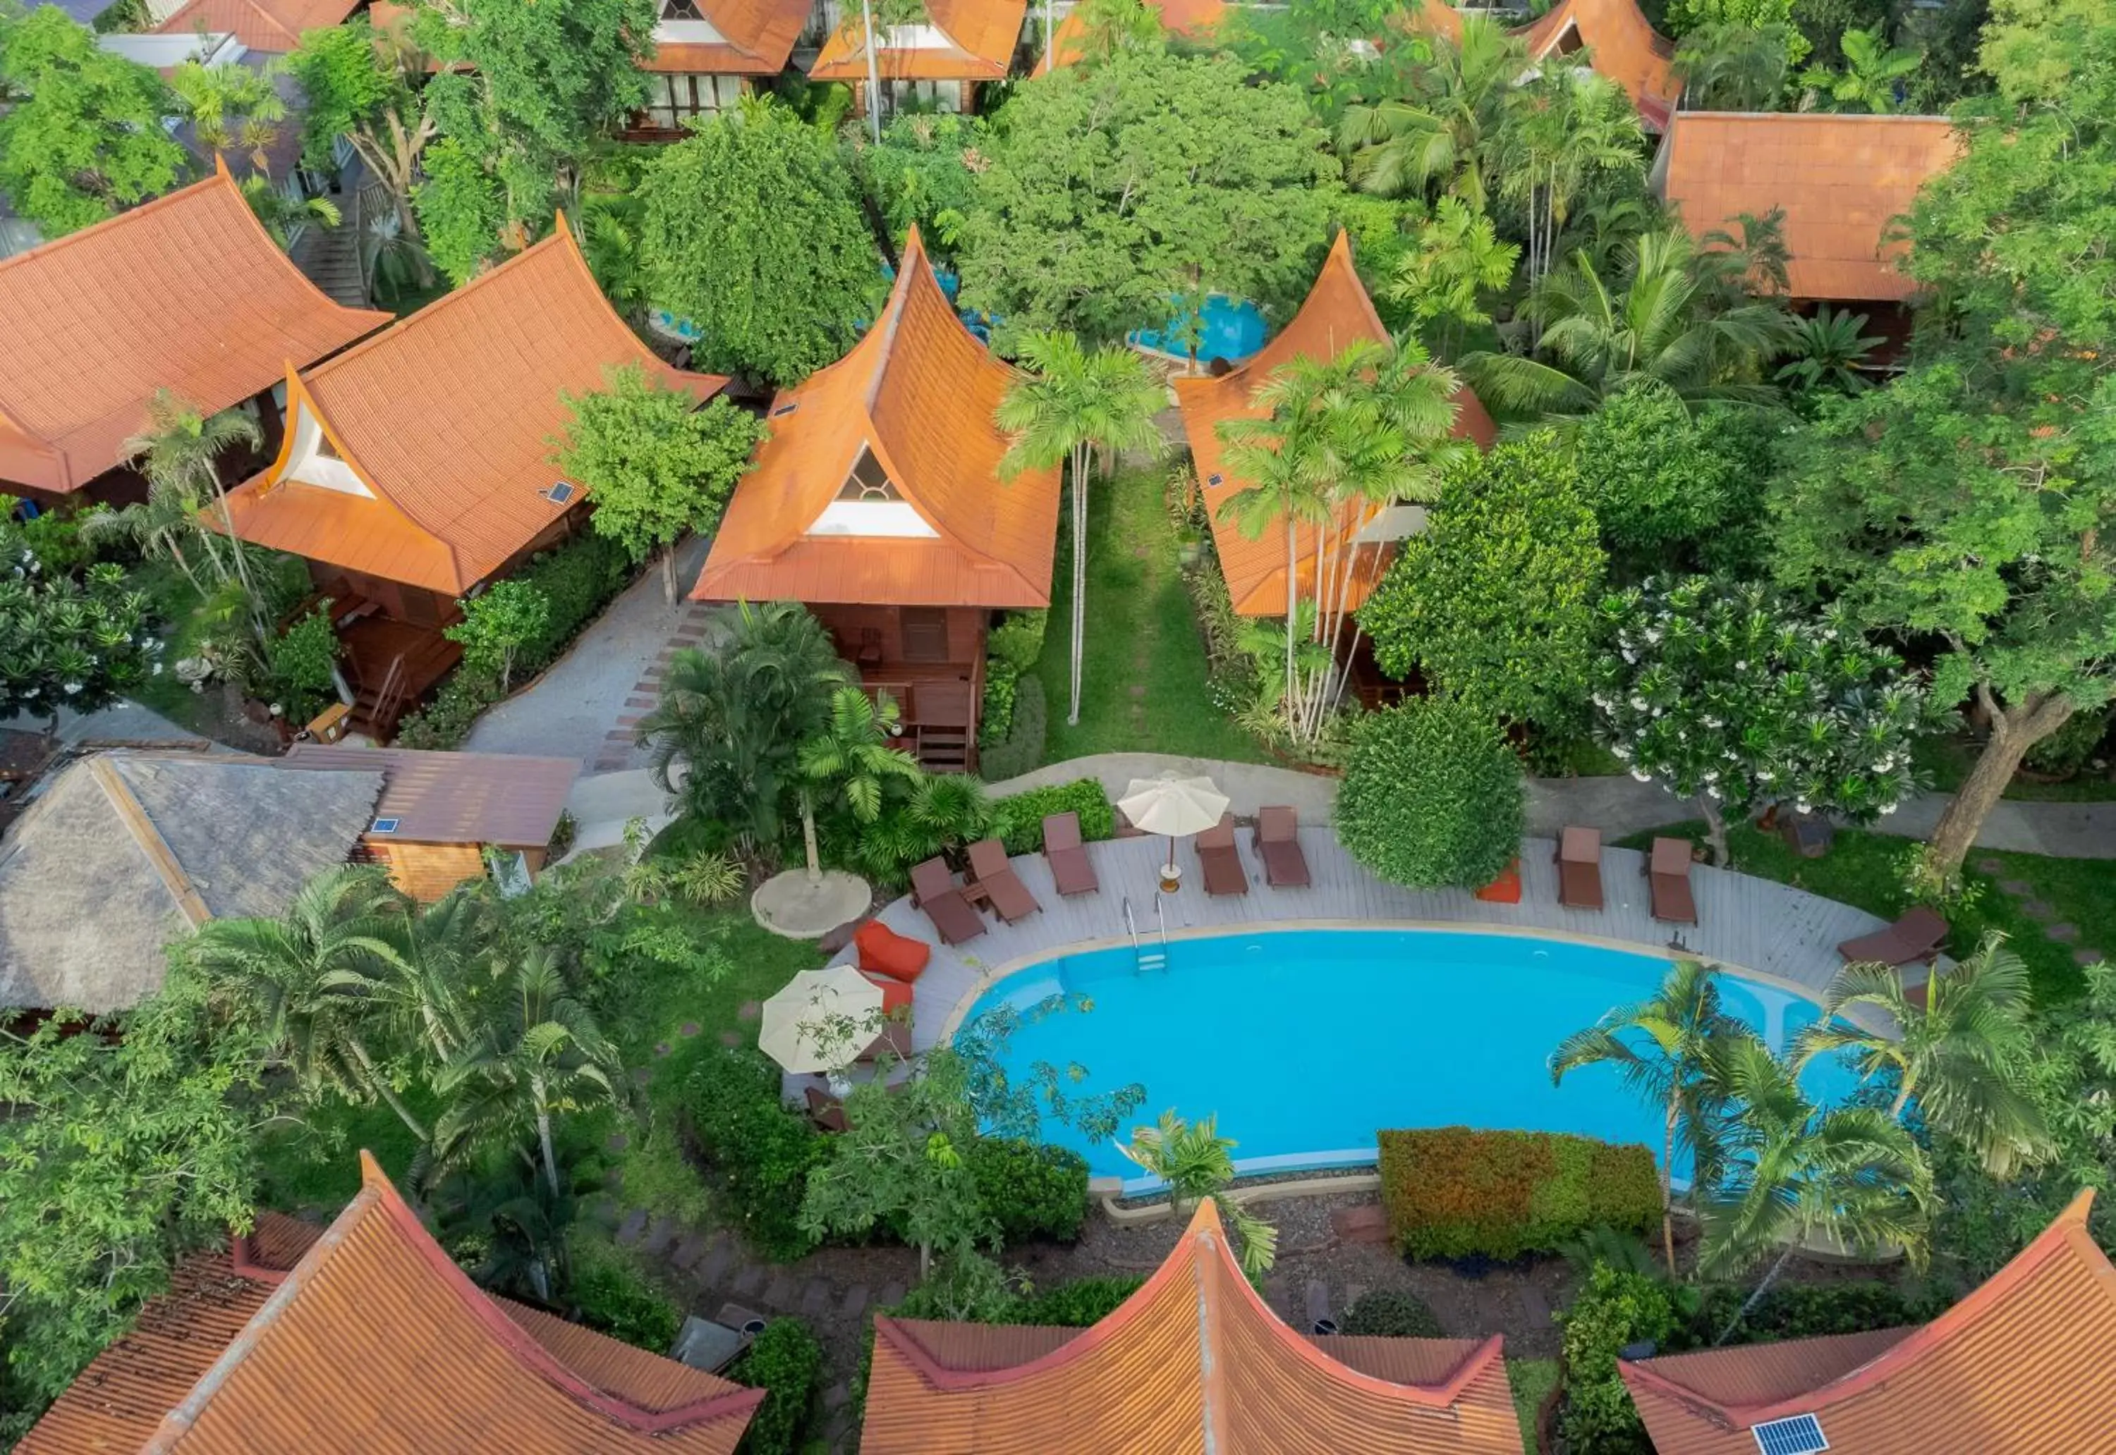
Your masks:
<path fill-rule="evenodd" d="M 1166 478 L 1166 469 L 1126 469 L 1088 489 L 1088 656 L 1077 725 L 1066 725 L 1073 524 L 1058 522 L 1050 630 L 1035 668 L 1050 700 L 1045 763 L 1088 753 L 1267 761 L 1206 689 L 1204 639 L 1162 508 Z"/>

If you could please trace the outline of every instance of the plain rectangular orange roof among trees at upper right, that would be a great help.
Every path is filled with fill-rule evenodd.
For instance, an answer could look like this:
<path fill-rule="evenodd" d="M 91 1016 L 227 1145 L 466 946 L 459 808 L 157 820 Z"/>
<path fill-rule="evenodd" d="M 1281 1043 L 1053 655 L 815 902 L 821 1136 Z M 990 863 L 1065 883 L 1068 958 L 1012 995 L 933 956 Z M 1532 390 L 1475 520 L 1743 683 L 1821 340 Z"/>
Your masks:
<path fill-rule="evenodd" d="M 1883 233 L 1957 148 L 1945 116 L 1678 112 L 1661 195 L 1695 237 L 1784 207 L 1794 298 L 1896 302 L 1917 283 Z"/>

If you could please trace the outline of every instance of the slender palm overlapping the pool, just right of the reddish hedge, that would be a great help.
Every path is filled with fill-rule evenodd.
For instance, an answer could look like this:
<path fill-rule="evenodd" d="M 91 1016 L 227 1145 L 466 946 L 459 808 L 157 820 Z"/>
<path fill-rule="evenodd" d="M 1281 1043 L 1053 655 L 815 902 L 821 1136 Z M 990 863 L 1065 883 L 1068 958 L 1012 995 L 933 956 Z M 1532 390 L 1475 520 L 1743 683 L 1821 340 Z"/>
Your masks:
<path fill-rule="evenodd" d="M 1551 1085 L 1581 1066 L 1615 1066 L 1627 1087 L 1661 1108 L 1661 1256 L 1670 1277 L 1676 1275 L 1676 1153 L 1691 1153 L 1691 1186 L 1708 1186 L 1722 1121 L 1712 1091 L 1712 1049 L 1735 1028 L 1720 1009 L 1716 971 L 1676 960 L 1653 998 L 1610 1011 L 1551 1051 Z"/>

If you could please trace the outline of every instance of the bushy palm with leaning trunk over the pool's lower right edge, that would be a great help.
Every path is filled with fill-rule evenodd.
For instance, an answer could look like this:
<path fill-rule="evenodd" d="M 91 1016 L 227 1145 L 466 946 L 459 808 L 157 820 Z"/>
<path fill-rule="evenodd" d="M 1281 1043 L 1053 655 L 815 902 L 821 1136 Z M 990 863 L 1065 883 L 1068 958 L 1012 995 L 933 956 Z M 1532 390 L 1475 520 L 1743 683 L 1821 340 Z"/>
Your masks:
<path fill-rule="evenodd" d="M 1803 1244 L 1868 1254 L 1894 1246 L 1923 1265 L 1932 1167 L 1900 1121 L 1873 1106 L 1820 1110 L 1792 1068 L 1752 1034 L 1714 1047 L 1712 1076 L 1735 1110 L 1720 1180 L 1703 1205 L 1697 1267 L 1705 1277 L 1729 1277 L 1777 1254 L 1720 1343 Z"/>

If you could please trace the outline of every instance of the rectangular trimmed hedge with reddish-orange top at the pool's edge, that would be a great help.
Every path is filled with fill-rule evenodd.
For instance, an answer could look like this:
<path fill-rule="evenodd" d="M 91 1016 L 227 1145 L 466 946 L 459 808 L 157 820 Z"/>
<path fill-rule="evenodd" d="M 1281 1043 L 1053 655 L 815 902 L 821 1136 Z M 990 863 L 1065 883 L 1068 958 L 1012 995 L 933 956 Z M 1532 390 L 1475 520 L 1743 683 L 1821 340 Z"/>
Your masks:
<path fill-rule="evenodd" d="M 1382 1131 L 1388 1233 L 1411 1258 L 1553 1252 L 1604 1222 L 1644 1235 L 1661 1180 L 1644 1146 L 1555 1131 Z"/>

